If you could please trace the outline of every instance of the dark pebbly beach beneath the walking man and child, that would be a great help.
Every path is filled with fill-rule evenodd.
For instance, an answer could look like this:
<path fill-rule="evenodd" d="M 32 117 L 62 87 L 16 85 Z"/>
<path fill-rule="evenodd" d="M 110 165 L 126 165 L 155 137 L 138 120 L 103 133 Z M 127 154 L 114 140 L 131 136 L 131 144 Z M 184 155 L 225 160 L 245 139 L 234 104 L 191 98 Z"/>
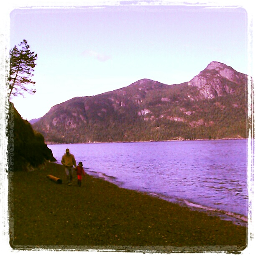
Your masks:
<path fill-rule="evenodd" d="M 46 176 L 63 180 L 56 184 Z M 14 249 L 239 252 L 247 228 L 204 212 L 83 177 L 66 184 L 64 167 L 47 163 L 10 174 L 10 246 Z"/>

